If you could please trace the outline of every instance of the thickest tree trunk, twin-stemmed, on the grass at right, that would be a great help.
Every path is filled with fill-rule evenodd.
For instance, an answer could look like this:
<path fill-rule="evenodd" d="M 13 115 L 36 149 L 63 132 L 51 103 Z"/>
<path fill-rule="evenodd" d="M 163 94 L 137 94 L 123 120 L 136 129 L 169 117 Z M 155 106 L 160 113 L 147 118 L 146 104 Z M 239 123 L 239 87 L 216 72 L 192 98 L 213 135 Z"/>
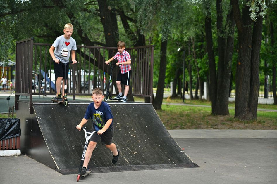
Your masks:
<path fill-rule="evenodd" d="M 240 120 L 252 120 L 255 119 L 255 109 L 257 105 L 256 100 L 256 88 L 259 85 L 257 81 L 257 68 L 256 60 L 258 50 L 258 43 L 256 38 L 254 38 L 257 43 L 252 46 L 252 24 L 253 21 L 249 15 L 249 6 L 244 5 L 242 10 L 242 17 L 240 15 L 239 4 L 237 0 L 231 0 L 233 5 L 233 12 L 235 23 L 238 28 L 239 37 L 239 55 L 238 64 L 236 70 L 236 97 L 235 97 L 235 118 Z M 255 25 L 254 35 L 255 37 L 259 35 L 260 26 Z M 253 53 L 252 53 L 253 47 Z M 251 59 L 251 56 L 255 58 Z M 251 71 L 252 70 L 252 71 Z M 251 85 L 251 87 L 250 87 Z M 253 86 L 252 86 L 253 85 Z M 251 96 L 252 95 L 252 96 Z M 253 96 L 254 95 L 254 96 Z M 253 114 L 254 113 L 254 114 Z"/>

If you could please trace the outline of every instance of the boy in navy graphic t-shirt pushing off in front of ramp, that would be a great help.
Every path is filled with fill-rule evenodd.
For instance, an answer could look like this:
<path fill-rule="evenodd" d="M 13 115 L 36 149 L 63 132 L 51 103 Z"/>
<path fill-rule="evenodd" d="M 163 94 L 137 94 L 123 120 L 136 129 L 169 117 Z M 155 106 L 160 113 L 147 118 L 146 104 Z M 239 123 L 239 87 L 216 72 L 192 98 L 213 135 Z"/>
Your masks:
<path fill-rule="evenodd" d="M 93 102 L 87 106 L 87 111 L 80 122 L 76 126 L 76 129 L 81 130 L 84 124 L 91 118 L 93 122 L 92 131 L 97 131 L 90 138 L 90 143 L 87 147 L 84 165 L 82 168 L 82 175 L 87 171 L 87 165 L 90 161 L 92 152 L 96 147 L 96 144 L 101 138 L 102 144 L 105 144 L 113 152 L 112 163 L 115 164 L 118 161 L 118 156 L 120 153 L 119 149 L 116 149 L 116 145 L 112 143 L 113 139 L 113 114 L 111 113 L 110 106 L 106 102 L 102 102 L 104 95 L 100 88 L 95 88 L 92 91 Z M 115 156 L 116 155 L 116 156 Z"/>

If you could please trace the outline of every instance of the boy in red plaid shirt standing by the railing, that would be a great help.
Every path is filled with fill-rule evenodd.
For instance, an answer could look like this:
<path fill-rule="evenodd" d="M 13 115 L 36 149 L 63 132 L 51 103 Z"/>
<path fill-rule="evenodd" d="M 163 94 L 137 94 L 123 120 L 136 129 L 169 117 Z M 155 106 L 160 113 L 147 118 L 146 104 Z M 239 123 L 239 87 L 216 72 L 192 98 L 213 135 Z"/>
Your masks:
<path fill-rule="evenodd" d="M 114 98 L 121 99 L 120 100 L 121 102 L 127 101 L 127 94 L 129 91 L 129 84 L 130 84 L 130 79 L 132 74 L 131 57 L 130 57 L 130 54 L 124 49 L 125 49 L 125 43 L 123 41 L 118 41 L 117 43 L 118 52 L 111 59 L 105 61 L 105 63 L 108 65 L 111 61 L 116 59 L 118 61 L 116 65 L 120 66 L 120 70 L 116 78 L 116 86 L 119 91 L 119 94 Z M 122 96 L 121 83 L 124 84 L 125 86 L 124 96 Z"/>

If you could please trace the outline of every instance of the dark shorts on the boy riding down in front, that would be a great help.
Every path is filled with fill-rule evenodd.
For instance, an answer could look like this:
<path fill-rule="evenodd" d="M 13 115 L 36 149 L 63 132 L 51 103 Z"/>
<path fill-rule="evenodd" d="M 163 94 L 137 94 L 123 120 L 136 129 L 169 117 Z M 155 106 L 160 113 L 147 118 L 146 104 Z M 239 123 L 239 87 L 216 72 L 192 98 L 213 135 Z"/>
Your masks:
<path fill-rule="evenodd" d="M 92 126 L 91 131 L 95 131 L 94 126 Z M 96 132 L 91 136 L 90 141 L 98 142 L 101 138 L 101 143 L 104 145 L 110 145 L 113 140 L 113 125 L 111 125 L 102 135 L 98 135 Z"/>

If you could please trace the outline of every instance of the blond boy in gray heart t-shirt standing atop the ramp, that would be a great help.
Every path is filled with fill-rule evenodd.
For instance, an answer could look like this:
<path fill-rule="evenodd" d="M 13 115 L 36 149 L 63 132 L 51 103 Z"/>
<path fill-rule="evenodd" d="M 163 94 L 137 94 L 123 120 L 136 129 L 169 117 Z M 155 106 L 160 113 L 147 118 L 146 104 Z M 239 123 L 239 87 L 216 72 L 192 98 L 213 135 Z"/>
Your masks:
<path fill-rule="evenodd" d="M 61 63 L 68 63 L 69 57 L 71 54 L 71 60 L 74 63 L 77 63 L 75 60 L 75 50 L 77 50 L 76 47 L 76 41 L 71 37 L 73 32 L 73 25 L 72 24 L 66 24 L 63 29 L 64 35 L 59 36 L 56 38 L 54 43 L 52 44 L 51 48 L 49 49 L 49 53 L 52 57 L 52 59 L 55 61 L 54 63 L 54 72 L 56 79 L 56 97 L 54 100 L 62 101 L 64 94 L 64 84 L 65 84 L 65 76 L 64 73 L 68 74 L 68 65 L 66 65 L 66 71 L 64 71 L 64 65 Z M 61 63 L 60 63 L 61 61 Z M 61 81 L 63 80 L 63 90 L 62 90 L 62 96 L 61 96 Z M 67 84 L 67 82 L 66 82 Z M 67 86 L 66 86 L 67 87 Z"/>

